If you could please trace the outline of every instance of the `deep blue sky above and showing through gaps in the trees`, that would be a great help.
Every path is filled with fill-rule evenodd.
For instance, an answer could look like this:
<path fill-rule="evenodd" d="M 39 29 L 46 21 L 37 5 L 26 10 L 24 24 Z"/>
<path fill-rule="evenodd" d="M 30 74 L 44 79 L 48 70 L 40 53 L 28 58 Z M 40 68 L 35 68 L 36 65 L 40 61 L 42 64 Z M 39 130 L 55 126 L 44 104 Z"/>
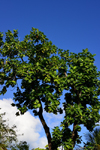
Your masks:
<path fill-rule="evenodd" d="M 0 6 L 1 32 L 18 29 L 23 40 L 32 27 L 38 28 L 58 48 L 74 53 L 88 48 L 96 54 L 95 65 L 100 71 L 100 0 L 3 0 Z M 3 98 L 13 98 L 12 91 L 0 96 Z"/>

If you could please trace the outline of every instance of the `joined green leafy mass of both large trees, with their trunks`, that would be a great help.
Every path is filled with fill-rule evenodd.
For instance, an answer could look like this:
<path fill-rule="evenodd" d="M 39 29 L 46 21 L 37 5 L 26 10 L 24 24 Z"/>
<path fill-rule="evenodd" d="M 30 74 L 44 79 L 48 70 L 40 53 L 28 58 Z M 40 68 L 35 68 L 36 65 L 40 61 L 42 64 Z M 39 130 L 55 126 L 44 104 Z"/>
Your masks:
<path fill-rule="evenodd" d="M 95 55 L 88 49 L 78 54 L 58 49 L 35 28 L 23 41 L 19 41 L 17 30 L 8 30 L 5 39 L 0 33 L 0 55 L 0 94 L 5 94 L 9 86 L 16 87 L 12 105 L 17 106 L 21 114 L 31 109 L 39 117 L 49 150 L 61 145 L 72 150 L 76 143 L 81 143 L 80 125 L 92 131 L 100 119 L 100 72 L 94 65 Z M 60 96 L 64 90 L 61 108 Z M 56 115 L 65 113 L 61 128 L 55 127 L 52 134 L 44 119 L 44 110 Z"/>

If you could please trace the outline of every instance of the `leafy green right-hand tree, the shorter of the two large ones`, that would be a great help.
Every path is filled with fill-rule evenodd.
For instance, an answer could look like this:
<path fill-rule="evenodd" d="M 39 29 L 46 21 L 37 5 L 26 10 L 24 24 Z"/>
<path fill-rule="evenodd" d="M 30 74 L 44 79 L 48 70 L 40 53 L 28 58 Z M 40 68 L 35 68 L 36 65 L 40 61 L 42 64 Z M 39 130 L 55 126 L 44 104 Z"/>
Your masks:
<path fill-rule="evenodd" d="M 97 68 L 94 66 L 94 55 L 88 52 L 88 49 L 78 55 L 70 53 L 68 56 L 66 51 L 60 54 L 69 67 L 63 82 L 64 89 L 69 92 L 65 93 L 65 102 L 63 103 L 65 117 L 61 123 L 62 130 L 56 127 L 58 130 L 53 132 L 53 141 L 60 132 L 59 135 L 63 136 L 58 136 L 58 144 L 59 141 L 62 141 L 65 149 L 72 149 L 76 142 L 77 144 L 81 143 L 81 137 L 78 135 L 78 132 L 81 131 L 80 125 L 83 124 L 89 131 L 92 131 L 96 126 L 95 123 L 100 119 L 98 99 L 100 72 L 97 73 Z M 72 124 L 73 131 L 69 128 Z"/>

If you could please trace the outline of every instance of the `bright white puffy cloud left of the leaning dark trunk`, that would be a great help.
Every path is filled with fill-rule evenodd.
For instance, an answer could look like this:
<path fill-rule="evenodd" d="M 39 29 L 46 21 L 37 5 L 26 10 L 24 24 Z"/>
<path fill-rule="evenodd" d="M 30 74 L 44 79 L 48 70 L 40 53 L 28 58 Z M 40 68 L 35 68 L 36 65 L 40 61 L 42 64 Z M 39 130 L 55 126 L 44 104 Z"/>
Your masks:
<path fill-rule="evenodd" d="M 24 133 L 23 136 L 19 136 L 19 141 L 27 141 L 30 148 L 41 147 L 44 148 L 47 145 L 47 139 L 45 136 L 40 136 L 39 132 L 42 130 L 42 125 L 38 118 L 33 117 L 30 112 L 26 112 L 24 115 L 17 116 L 15 113 L 18 111 L 16 107 L 12 107 L 12 99 L 0 100 L 0 113 L 6 112 L 4 119 L 9 119 L 7 123 L 9 126 L 16 125 L 18 134 Z"/>

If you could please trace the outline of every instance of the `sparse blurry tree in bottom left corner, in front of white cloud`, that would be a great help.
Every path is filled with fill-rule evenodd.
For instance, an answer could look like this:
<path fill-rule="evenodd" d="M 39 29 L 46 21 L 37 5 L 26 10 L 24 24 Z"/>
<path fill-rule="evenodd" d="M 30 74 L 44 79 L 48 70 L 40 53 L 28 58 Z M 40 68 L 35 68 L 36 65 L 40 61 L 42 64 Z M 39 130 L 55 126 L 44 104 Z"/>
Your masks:
<path fill-rule="evenodd" d="M 18 136 L 16 134 L 14 125 L 13 127 L 9 127 L 6 121 L 3 119 L 5 113 L 0 114 L 0 150 L 7 150 L 10 148 L 11 150 L 29 150 L 29 145 L 26 141 L 20 141 L 18 143 Z"/>

